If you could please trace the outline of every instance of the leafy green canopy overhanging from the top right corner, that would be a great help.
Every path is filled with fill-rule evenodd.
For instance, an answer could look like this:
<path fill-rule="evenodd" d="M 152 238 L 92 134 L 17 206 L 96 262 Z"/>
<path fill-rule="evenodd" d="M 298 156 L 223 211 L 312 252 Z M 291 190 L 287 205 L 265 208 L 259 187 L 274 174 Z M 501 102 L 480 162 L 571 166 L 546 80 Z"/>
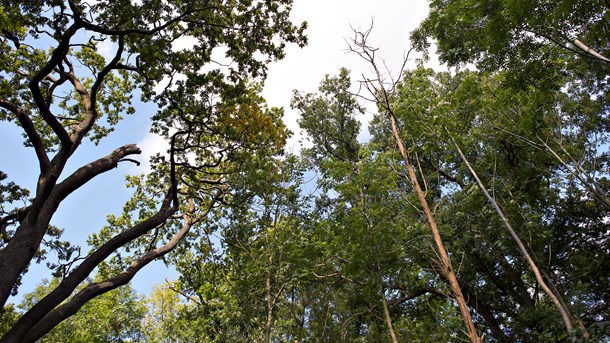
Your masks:
<path fill-rule="evenodd" d="M 519 75 L 530 80 L 548 67 L 567 67 L 599 78 L 610 64 L 607 9 L 602 0 L 434 0 L 411 38 L 420 50 L 435 39 L 439 59 L 449 65 L 474 62 L 485 70 L 533 72 Z M 563 66 L 548 63 L 558 56 L 566 59 Z"/>

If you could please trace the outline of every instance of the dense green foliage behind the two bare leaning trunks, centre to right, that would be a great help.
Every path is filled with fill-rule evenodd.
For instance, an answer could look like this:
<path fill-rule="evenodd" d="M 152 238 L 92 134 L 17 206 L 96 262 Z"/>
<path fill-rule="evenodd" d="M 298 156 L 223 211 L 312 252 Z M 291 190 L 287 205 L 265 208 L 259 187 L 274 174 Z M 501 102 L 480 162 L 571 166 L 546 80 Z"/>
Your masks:
<path fill-rule="evenodd" d="M 490 341 L 567 338 L 451 139 L 490 185 L 545 277 L 592 339 L 603 340 L 607 209 L 547 148 L 602 161 L 597 143 L 582 135 L 605 134 L 603 121 L 594 110 L 572 120 L 571 110 L 591 104 L 584 97 L 556 87 L 519 90 L 506 78 L 406 72 L 391 99 L 401 135 L 459 261 L 460 285 L 480 332 Z M 295 93 L 293 104 L 314 143 L 303 161 L 257 156 L 245 162 L 231 207 L 207 224 L 206 233 L 216 232 L 220 243 L 206 236 L 175 260 L 182 273 L 175 287 L 188 299 L 180 320 L 197 323 L 204 341 L 389 341 L 382 299 L 399 339 L 462 339 L 460 316 L 425 222 L 411 205 L 415 198 L 389 129 L 376 118 L 372 141 L 357 142 L 359 107 L 345 80 L 345 72 L 326 77 L 322 85 L 336 87 L 322 95 Z M 351 110 L 333 110 L 337 99 L 352 107 L 334 108 Z M 351 130 L 340 129 L 346 123 L 354 124 Z M 602 184 L 604 163 L 593 169 Z M 304 166 L 321 175 L 309 195 Z"/>

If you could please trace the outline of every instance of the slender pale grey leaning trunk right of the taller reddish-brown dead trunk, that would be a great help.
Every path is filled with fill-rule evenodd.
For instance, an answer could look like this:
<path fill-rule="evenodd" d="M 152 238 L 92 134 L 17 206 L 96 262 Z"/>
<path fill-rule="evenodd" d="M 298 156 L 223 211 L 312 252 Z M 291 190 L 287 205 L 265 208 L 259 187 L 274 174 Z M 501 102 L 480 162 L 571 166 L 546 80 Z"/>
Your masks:
<path fill-rule="evenodd" d="M 527 261 L 528 265 L 530 266 L 530 269 L 534 272 L 534 275 L 536 277 L 536 281 L 540 284 L 540 287 L 542 288 L 544 293 L 546 293 L 546 295 L 548 295 L 548 297 L 551 299 L 551 301 L 553 302 L 555 307 L 557 307 L 557 310 L 559 311 L 559 314 L 561 315 L 563 323 L 565 324 L 566 329 L 568 330 L 568 333 L 571 335 L 572 331 L 574 330 L 574 323 L 573 323 L 573 321 L 575 321 L 575 320 L 574 320 L 574 317 L 572 316 L 572 314 L 570 313 L 568 307 L 565 305 L 565 302 L 563 301 L 563 299 L 560 299 L 561 296 L 559 294 L 556 295 L 550 289 L 550 287 L 547 285 L 547 283 L 544 281 L 544 278 L 542 277 L 542 273 L 540 272 L 540 269 L 538 268 L 538 266 L 536 265 L 536 262 L 532 259 L 532 257 L 528 253 L 527 248 L 525 247 L 525 245 L 521 241 L 521 238 L 519 237 L 517 232 L 513 229 L 512 225 L 508 221 L 508 218 L 506 218 L 506 216 L 504 215 L 504 212 L 502 211 L 502 209 L 498 205 L 497 201 L 489 194 L 489 192 L 485 188 L 485 185 L 483 185 L 483 182 L 479 178 L 479 176 L 476 173 L 476 171 L 474 170 L 474 168 L 472 168 L 472 166 L 470 165 L 470 162 L 468 161 L 468 159 L 466 158 L 466 156 L 462 152 L 462 149 L 460 149 L 460 147 L 457 144 L 457 142 L 453 139 L 453 137 L 451 137 L 451 142 L 453 143 L 453 146 L 455 146 L 457 152 L 460 154 L 460 157 L 464 161 L 464 164 L 466 164 L 466 166 L 468 167 L 468 170 L 470 170 L 470 173 L 472 174 L 474 179 L 477 181 L 477 184 L 478 184 L 479 188 L 485 194 L 485 197 L 487 197 L 487 200 L 489 200 L 489 202 L 493 205 L 493 207 L 495 208 L 496 212 L 498 213 L 498 215 L 502 219 L 502 222 L 504 223 L 504 226 L 506 227 L 506 229 L 510 233 L 511 237 L 513 238 L 515 243 L 517 243 L 517 246 L 519 247 L 519 251 L 521 252 L 521 255 Z M 587 329 L 584 327 L 582 322 L 581 321 L 576 321 L 576 322 L 577 322 L 577 326 L 579 326 L 580 330 L 582 331 L 583 336 L 585 338 L 588 338 L 589 337 L 589 333 L 587 332 Z"/>

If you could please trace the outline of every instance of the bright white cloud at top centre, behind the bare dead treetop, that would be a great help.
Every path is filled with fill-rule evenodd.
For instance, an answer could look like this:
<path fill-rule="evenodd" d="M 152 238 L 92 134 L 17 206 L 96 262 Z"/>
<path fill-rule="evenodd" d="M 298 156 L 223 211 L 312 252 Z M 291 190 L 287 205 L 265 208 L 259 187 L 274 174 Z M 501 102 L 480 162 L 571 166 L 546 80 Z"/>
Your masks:
<path fill-rule="evenodd" d="M 352 27 L 366 30 L 373 23 L 369 43 L 379 48 L 377 56 L 397 78 L 403 56 L 410 47 L 409 34 L 427 14 L 425 0 L 295 0 L 291 18 L 295 23 L 308 22 L 309 43 L 303 49 L 289 45 L 286 58 L 269 66 L 263 89 L 270 106 L 284 108 L 286 125 L 295 133 L 287 149 L 298 150 L 301 138 L 296 122 L 298 113 L 290 109 L 294 89 L 315 92 L 325 74 L 336 75 L 341 67 L 351 70 L 354 83 L 362 75 L 371 75 L 367 63 L 348 51 L 347 42 L 353 38 Z M 432 66 L 435 64 L 432 61 Z M 356 87 L 354 91 L 357 91 Z M 371 106 L 369 109 L 373 110 Z M 363 129 L 371 118 L 371 114 L 363 116 Z"/>

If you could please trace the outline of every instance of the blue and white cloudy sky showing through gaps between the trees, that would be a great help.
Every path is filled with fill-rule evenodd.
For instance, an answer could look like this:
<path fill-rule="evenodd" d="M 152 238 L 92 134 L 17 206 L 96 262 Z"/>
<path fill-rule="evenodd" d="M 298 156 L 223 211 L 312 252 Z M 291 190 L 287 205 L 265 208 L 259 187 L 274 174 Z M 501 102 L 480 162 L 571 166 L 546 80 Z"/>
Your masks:
<path fill-rule="evenodd" d="M 262 94 L 269 106 L 284 108 L 285 122 L 296 133 L 286 150 L 297 152 L 299 149 L 298 113 L 290 109 L 293 90 L 315 92 L 326 74 L 336 75 L 341 67 L 351 71 L 352 81 L 361 79 L 362 75 L 371 75 L 366 62 L 348 51 L 347 42 L 353 37 L 352 27 L 366 30 L 373 25 L 369 43 L 379 48 L 378 56 L 396 77 L 409 49 L 409 32 L 417 27 L 427 12 L 426 0 L 295 0 L 291 17 L 295 23 L 308 22 L 306 34 L 309 43 L 302 49 L 289 45 L 285 59 L 269 65 Z M 434 61 L 430 63 L 436 66 Z M 124 144 L 137 143 L 143 150 L 139 157 L 142 162 L 164 150 L 165 143 L 148 132 L 148 118 L 154 114 L 154 106 L 142 104 L 135 98 L 136 114 L 124 119 L 116 132 L 103 140 L 100 146 L 84 144 L 67 166 L 66 175 Z M 365 123 L 363 127 L 366 127 L 370 114 L 361 119 Z M 0 150 L 0 170 L 6 172 L 10 180 L 33 190 L 37 163 L 33 151 L 23 148 L 21 142 L 21 133 L 14 124 L 0 122 L 0 147 L 3 147 Z M 120 214 L 131 194 L 123 186 L 125 174 L 143 171 L 146 171 L 145 163 L 141 167 L 121 163 L 115 170 L 100 175 L 62 203 L 53 224 L 65 229 L 64 238 L 85 244 L 87 235 L 106 223 L 106 215 Z M 87 250 L 85 247 L 83 252 Z M 32 265 L 18 296 L 9 302 L 18 303 L 23 294 L 32 291 L 45 277 L 50 275 L 44 263 Z M 154 262 L 135 276 L 132 286 L 139 293 L 147 294 L 153 285 L 176 277 L 175 271 L 161 262 Z"/>

